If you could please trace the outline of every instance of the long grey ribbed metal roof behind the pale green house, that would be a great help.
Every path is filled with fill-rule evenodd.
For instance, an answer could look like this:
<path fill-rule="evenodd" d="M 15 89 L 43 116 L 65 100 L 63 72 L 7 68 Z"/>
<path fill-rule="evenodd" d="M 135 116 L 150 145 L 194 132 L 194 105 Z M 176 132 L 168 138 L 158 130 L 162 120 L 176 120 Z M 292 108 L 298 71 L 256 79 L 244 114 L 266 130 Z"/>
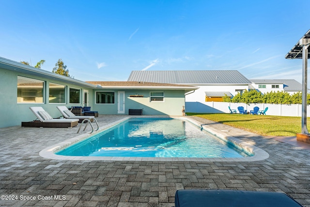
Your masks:
<path fill-rule="evenodd" d="M 145 70 L 132 71 L 128 81 L 172 84 L 251 84 L 237 70 Z"/>

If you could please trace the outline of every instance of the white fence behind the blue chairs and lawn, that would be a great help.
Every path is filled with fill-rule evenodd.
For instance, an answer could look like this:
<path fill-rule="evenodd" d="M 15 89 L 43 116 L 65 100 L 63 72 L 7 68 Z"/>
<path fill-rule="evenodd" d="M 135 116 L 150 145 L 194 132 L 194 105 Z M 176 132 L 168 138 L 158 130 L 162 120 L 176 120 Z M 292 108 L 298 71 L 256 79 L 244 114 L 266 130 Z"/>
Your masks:
<path fill-rule="evenodd" d="M 186 112 L 194 113 L 230 113 L 228 106 L 233 110 L 238 111 L 239 106 L 243 106 L 245 110 L 253 110 L 254 107 L 259 107 L 263 111 L 266 107 L 266 115 L 275 116 L 301 116 L 301 104 L 245 104 L 245 103 L 229 103 L 229 102 L 186 102 Z M 310 106 L 307 106 L 307 116 L 310 117 Z M 238 112 L 239 113 L 239 112 Z"/>

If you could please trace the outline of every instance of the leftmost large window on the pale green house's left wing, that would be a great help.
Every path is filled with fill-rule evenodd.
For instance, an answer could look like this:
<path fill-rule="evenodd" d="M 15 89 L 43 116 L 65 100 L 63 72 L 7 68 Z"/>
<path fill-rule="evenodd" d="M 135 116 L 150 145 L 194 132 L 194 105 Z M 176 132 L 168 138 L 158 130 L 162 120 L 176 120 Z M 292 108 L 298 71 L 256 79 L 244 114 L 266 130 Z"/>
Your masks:
<path fill-rule="evenodd" d="M 17 76 L 17 103 L 44 103 L 44 81 Z"/>

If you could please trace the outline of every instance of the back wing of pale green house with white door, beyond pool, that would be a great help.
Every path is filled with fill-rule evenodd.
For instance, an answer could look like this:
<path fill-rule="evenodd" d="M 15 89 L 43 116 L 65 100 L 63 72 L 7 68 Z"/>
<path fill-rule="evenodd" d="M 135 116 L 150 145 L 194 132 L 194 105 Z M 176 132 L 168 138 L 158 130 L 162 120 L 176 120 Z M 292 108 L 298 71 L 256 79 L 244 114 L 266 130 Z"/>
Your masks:
<path fill-rule="evenodd" d="M 93 90 L 93 109 L 99 114 L 182 115 L 185 94 L 194 86 L 143 81 L 88 81 Z"/>

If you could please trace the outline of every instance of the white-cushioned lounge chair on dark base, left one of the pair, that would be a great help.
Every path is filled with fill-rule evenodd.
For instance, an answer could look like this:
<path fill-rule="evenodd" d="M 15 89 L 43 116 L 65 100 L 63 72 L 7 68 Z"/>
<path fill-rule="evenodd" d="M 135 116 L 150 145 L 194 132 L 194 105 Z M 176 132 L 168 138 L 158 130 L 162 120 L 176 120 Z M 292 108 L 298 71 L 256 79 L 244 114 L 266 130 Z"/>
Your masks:
<path fill-rule="evenodd" d="M 22 122 L 22 127 L 75 127 L 78 119 L 53 119 L 42 107 L 30 107 L 39 121 Z"/>

